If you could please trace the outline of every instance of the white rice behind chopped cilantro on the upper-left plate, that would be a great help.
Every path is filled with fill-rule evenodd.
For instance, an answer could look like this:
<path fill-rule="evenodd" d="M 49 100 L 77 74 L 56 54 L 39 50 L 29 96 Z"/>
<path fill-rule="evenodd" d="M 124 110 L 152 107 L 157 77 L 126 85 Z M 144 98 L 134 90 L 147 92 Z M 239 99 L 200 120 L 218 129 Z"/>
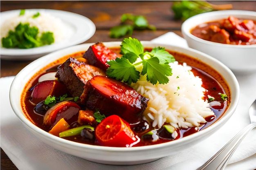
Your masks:
<path fill-rule="evenodd" d="M 21 22 L 22 24 L 29 23 L 29 26 L 36 26 L 39 30 L 40 37 L 43 32 L 50 31 L 54 33 L 54 42 L 60 42 L 64 38 L 64 26 L 61 19 L 56 18 L 49 13 L 40 12 L 40 15 L 33 18 L 36 12 L 25 10 L 24 15 L 16 15 L 8 18 L 1 24 L 1 40 L 8 36 L 10 30 L 14 31 L 15 27 Z"/>

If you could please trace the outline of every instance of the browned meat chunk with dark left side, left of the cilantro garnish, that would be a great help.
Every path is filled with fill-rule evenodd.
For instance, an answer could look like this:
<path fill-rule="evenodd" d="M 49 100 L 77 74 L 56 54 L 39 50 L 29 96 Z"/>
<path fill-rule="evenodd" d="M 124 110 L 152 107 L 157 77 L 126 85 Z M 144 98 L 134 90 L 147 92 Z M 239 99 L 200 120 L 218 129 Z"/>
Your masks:
<path fill-rule="evenodd" d="M 79 62 L 75 58 L 70 57 L 58 66 L 55 77 L 67 86 L 73 97 L 80 97 L 83 93 L 83 86 L 94 75 L 105 76 L 106 74 L 100 68 Z"/>

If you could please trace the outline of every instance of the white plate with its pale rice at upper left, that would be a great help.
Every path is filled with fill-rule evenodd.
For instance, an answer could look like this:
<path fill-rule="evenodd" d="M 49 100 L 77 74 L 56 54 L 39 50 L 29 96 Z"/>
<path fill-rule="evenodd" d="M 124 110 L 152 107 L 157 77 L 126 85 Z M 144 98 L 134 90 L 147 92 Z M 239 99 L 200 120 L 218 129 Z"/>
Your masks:
<path fill-rule="evenodd" d="M 53 51 L 81 44 L 90 39 L 96 31 L 95 24 L 89 18 L 76 13 L 54 9 L 25 9 L 25 14 L 20 15 L 20 11 L 1 12 L 1 40 L 7 37 L 10 30 L 14 31 L 21 22 L 36 26 L 39 30 L 38 35 L 46 31 L 54 33 L 54 43 L 31 49 L 7 49 L 1 44 L 2 59 L 34 60 Z M 32 18 L 36 13 L 40 15 Z"/>

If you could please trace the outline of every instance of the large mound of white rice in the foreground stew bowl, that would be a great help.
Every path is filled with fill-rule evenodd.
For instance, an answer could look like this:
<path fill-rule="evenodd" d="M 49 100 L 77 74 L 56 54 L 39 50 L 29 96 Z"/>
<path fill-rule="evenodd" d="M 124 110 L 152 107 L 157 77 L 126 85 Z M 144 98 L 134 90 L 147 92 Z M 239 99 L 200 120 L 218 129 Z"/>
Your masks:
<path fill-rule="evenodd" d="M 189 71 L 189 66 L 177 62 L 170 65 L 173 75 L 169 76 L 168 84 L 150 84 L 145 76 L 132 84 L 141 95 L 149 98 L 144 117 L 156 128 L 164 123 L 175 128 L 200 126 L 206 122 L 204 117 L 214 115 L 208 102 L 202 99 L 206 91 L 202 79 Z"/>

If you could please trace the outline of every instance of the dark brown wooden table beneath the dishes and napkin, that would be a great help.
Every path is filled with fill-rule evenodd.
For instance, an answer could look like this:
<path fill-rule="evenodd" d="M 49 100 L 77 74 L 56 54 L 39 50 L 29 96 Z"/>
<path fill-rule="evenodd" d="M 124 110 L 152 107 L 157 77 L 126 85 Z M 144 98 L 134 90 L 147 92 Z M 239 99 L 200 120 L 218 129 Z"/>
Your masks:
<path fill-rule="evenodd" d="M 256 1 L 209 1 L 212 4 L 232 4 L 233 9 L 256 11 Z M 1 1 L 1 12 L 13 9 L 58 9 L 84 15 L 96 25 L 96 33 L 84 42 L 122 41 L 109 38 L 112 26 L 120 24 L 123 13 L 144 15 L 156 31 L 134 31 L 132 38 L 152 40 L 172 31 L 182 36 L 182 21 L 174 20 L 172 1 Z M 78 23 L 79 24 L 79 23 Z M 8 61 L 1 59 L 1 77 L 16 75 L 31 61 Z M 1 169 L 15 170 L 16 166 L 1 148 Z"/>

